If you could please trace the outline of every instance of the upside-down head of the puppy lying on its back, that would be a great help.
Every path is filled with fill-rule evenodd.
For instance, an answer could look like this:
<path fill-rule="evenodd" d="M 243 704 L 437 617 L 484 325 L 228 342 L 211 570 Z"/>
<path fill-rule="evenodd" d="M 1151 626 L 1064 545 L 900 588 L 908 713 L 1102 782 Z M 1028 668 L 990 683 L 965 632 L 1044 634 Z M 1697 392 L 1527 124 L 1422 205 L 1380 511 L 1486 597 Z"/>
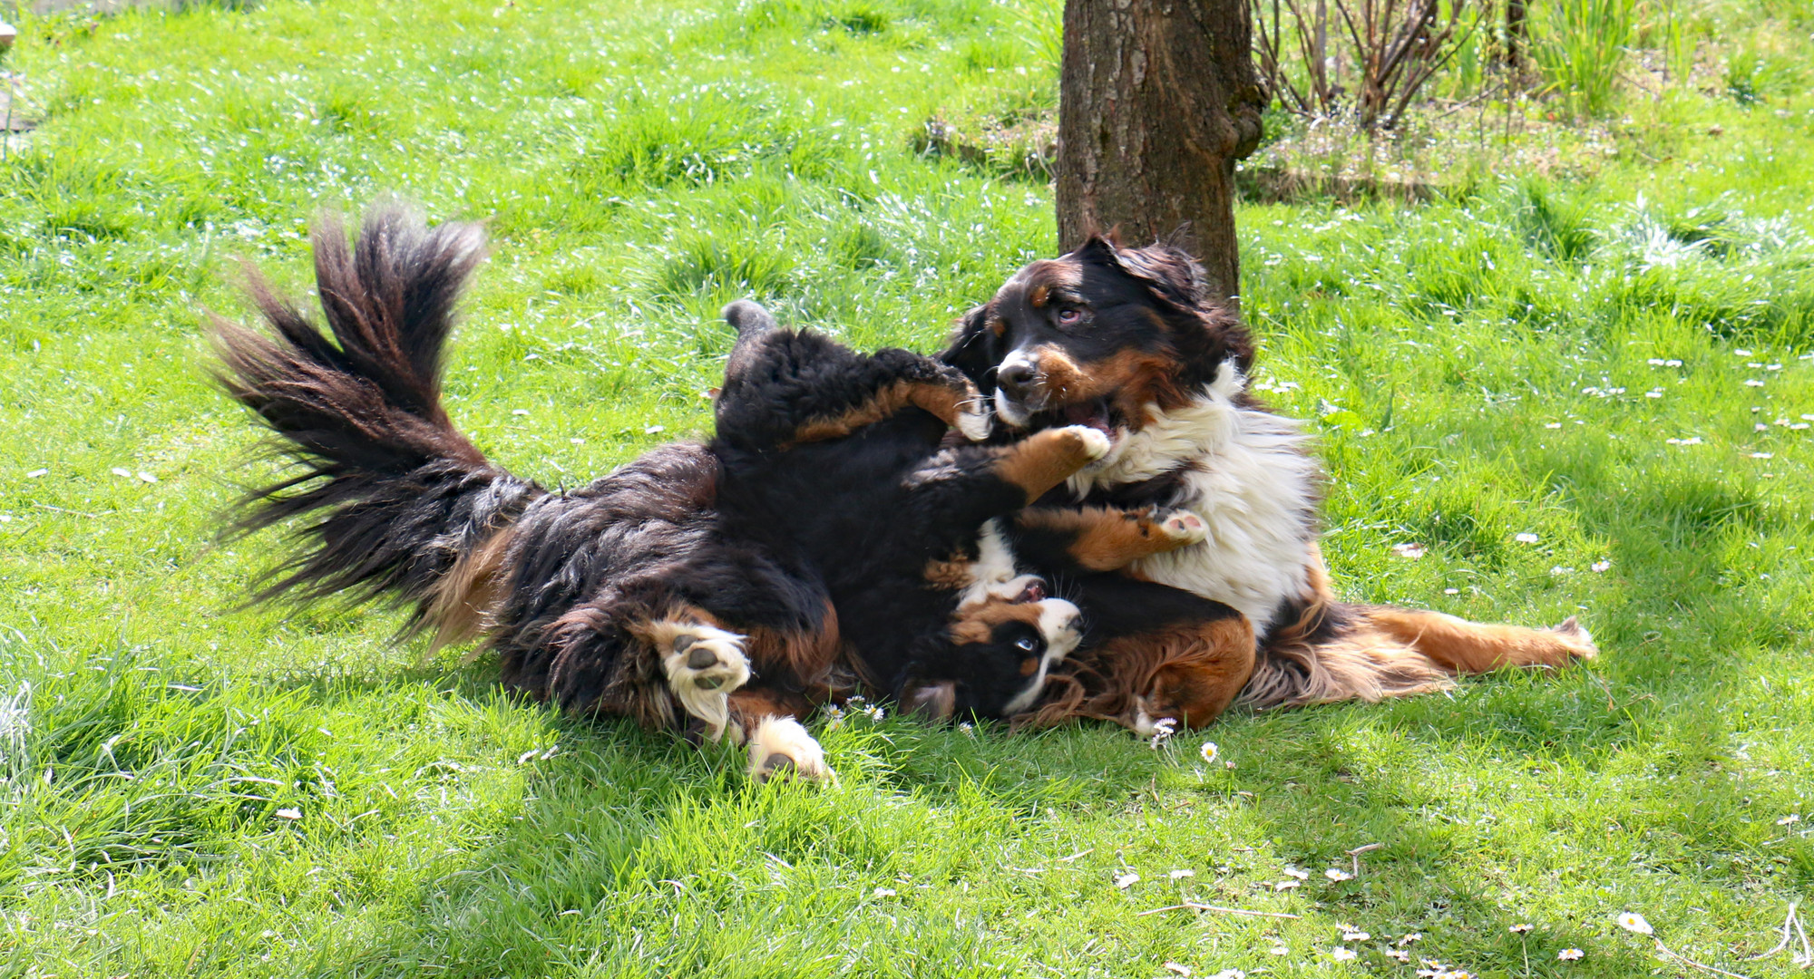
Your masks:
<path fill-rule="evenodd" d="M 1043 595 L 1032 589 L 1030 595 Z M 1032 707 L 1054 664 L 1078 647 L 1078 606 L 989 596 L 958 609 L 916 651 L 902 709 L 932 718 L 1009 718 Z"/>

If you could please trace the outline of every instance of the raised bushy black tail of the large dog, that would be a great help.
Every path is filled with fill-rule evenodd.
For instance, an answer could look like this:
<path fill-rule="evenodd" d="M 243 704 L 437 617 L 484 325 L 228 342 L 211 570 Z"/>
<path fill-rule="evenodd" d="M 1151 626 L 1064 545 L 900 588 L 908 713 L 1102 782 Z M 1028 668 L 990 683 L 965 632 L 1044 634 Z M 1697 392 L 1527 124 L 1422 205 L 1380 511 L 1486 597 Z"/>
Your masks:
<path fill-rule="evenodd" d="M 258 598 L 348 591 L 412 606 L 421 625 L 457 598 L 444 595 L 455 564 L 542 493 L 488 462 L 441 406 L 441 354 L 484 232 L 428 228 L 388 205 L 366 214 L 350 248 L 341 221 L 325 218 L 314 254 L 332 339 L 256 272 L 250 296 L 276 335 L 214 319 L 218 381 L 299 470 L 247 493 L 229 535 L 314 515 Z"/>

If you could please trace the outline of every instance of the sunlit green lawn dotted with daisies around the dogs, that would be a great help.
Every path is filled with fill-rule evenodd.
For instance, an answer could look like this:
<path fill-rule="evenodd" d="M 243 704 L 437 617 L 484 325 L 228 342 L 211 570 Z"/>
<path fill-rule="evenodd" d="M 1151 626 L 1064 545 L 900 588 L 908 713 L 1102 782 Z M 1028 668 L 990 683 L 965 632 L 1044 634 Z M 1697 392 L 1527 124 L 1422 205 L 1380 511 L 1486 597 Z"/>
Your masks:
<path fill-rule="evenodd" d="M 941 107 L 1048 85 L 1025 7 L 25 18 L 47 121 L 0 165 L 0 975 L 1683 974 L 1625 910 L 1801 975 L 1743 961 L 1814 899 L 1814 47 L 1778 7 L 1703 15 L 1751 94 L 1633 98 L 1585 183 L 1239 214 L 1255 383 L 1322 439 L 1341 591 L 1578 613 L 1598 664 L 1237 711 L 1214 765 L 1201 736 L 820 722 L 831 789 L 513 703 L 388 615 L 238 609 L 276 540 L 210 544 L 256 470 L 201 310 L 243 312 L 239 257 L 305 288 L 325 205 L 488 218 L 450 410 L 579 484 L 706 428 L 727 297 L 929 350 L 1054 248 L 1045 189 L 909 152 Z M 1310 879 L 1263 887 L 1286 865 Z M 1301 917 L 1137 914 L 1181 899 Z M 1373 935 L 1357 961 L 1337 925 Z M 1379 952 L 1404 932 L 1409 966 Z"/>

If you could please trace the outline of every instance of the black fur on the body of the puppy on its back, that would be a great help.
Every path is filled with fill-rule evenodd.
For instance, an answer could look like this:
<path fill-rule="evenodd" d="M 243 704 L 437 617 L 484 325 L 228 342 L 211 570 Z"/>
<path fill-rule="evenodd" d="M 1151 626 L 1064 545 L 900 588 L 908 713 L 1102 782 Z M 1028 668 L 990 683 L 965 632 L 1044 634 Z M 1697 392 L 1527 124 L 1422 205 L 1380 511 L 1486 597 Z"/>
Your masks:
<path fill-rule="evenodd" d="M 726 319 L 747 315 L 726 310 Z M 905 350 L 856 354 L 773 323 L 740 330 L 731 364 L 717 404 L 722 519 L 764 551 L 814 569 L 853 665 L 876 693 L 898 698 L 911 682 L 951 680 L 960 712 L 996 716 L 1025 685 L 1018 669 L 1029 653 L 1018 644 L 1029 631 L 958 644 L 949 636 L 958 593 L 925 571 L 974 558 L 981 526 L 1025 506 L 1025 491 L 994 473 L 990 450 L 940 448 L 945 424 L 918 408 L 793 444 L 811 417 L 845 412 L 894 381 L 941 381 L 947 368 Z M 1045 638 L 1030 635 L 1043 653 Z"/>

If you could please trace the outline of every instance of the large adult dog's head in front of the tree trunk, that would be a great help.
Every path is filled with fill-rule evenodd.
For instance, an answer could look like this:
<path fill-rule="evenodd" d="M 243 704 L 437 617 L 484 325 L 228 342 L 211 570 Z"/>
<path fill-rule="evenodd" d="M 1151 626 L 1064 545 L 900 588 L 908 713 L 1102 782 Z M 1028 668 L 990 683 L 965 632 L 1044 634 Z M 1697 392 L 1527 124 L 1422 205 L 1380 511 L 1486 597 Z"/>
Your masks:
<path fill-rule="evenodd" d="M 1186 404 L 1224 361 L 1244 373 L 1253 344 L 1206 297 L 1186 252 L 1096 236 L 1016 272 L 965 314 L 940 357 L 992 399 L 1009 428 L 1088 424 L 1116 437 L 1141 430 L 1152 408 Z"/>

